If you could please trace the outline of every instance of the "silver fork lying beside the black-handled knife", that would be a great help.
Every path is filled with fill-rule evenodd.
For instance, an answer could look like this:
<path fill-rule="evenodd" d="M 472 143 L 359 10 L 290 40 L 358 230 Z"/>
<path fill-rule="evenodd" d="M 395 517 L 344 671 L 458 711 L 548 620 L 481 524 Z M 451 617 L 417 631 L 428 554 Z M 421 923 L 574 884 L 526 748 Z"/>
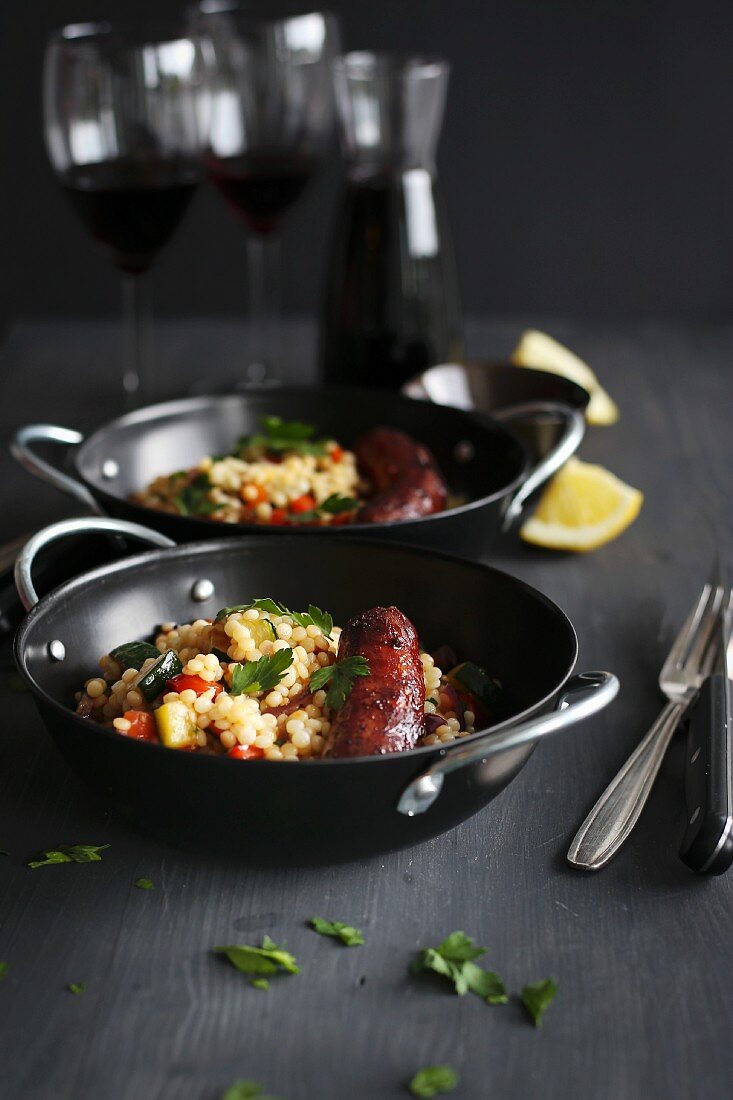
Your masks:
<path fill-rule="evenodd" d="M 708 581 L 659 673 L 667 703 L 582 823 L 568 851 L 576 867 L 597 871 L 626 842 L 649 796 L 672 734 L 718 656 L 714 629 L 723 600 L 720 571 Z"/>

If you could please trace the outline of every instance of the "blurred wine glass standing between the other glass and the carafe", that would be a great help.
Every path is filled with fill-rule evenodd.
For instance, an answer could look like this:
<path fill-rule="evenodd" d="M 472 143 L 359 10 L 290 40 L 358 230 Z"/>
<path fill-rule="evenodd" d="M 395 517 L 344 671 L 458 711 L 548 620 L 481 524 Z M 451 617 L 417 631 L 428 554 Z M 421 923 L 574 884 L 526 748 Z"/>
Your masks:
<path fill-rule="evenodd" d="M 244 384 L 256 385 L 280 358 L 277 230 L 333 133 L 338 23 L 320 11 L 263 16 L 236 0 L 204 0 L 192 21 L 215 55 L 209 177 L 248 230 L 252 352 Z"/>

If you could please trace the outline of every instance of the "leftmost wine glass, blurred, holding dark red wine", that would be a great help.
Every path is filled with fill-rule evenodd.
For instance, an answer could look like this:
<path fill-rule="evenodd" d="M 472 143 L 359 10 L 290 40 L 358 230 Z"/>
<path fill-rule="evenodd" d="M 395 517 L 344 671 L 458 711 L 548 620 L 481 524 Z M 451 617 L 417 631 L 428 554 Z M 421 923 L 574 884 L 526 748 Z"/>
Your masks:
<path fill-rule="evenodd" d="M 64 193 L 122 275 L 127 404 L 146 383 L 145 272 L 204 177 L 211 45 L 177 28 L 78 23 L 43 72 L 45 140 Z"/>

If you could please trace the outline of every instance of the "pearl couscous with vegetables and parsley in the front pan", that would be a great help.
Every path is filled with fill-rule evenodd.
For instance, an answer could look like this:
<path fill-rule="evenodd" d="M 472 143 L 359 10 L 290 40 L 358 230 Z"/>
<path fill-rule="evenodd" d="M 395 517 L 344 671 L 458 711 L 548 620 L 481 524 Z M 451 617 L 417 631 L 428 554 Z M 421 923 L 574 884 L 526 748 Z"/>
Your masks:
<path fill-rule="evenodd" d="M 363 657 L 339 658 L 341 632 L 314 605 L 298 613 L 270 598 L 222 608 L 212 620 L 164 623 L 153 642 L 124 642 L 101 658 L 101 674 L 75 696 L 76 713 L 172 749 L 240 760 L 324 757 L 341 706 L 372 671 Z M 419 662 L 419 744 L 489 724 L 496 684 L 482 670 L 464 662 L 446 673 L 425 651 Z"/>

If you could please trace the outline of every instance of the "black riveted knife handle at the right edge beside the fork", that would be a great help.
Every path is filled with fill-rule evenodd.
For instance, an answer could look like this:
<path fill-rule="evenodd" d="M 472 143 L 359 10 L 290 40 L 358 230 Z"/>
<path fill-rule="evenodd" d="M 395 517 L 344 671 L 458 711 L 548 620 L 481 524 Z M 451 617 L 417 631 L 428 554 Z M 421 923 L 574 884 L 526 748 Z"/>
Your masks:
<path fill-rule="evenodd" d="M 726 723 L 727 676 L 702 684 L 689 716 L 685 796 L 688 826 L 680 859 L 699 875 L 722 875 L 733 862 L 733 730 Z"/>

